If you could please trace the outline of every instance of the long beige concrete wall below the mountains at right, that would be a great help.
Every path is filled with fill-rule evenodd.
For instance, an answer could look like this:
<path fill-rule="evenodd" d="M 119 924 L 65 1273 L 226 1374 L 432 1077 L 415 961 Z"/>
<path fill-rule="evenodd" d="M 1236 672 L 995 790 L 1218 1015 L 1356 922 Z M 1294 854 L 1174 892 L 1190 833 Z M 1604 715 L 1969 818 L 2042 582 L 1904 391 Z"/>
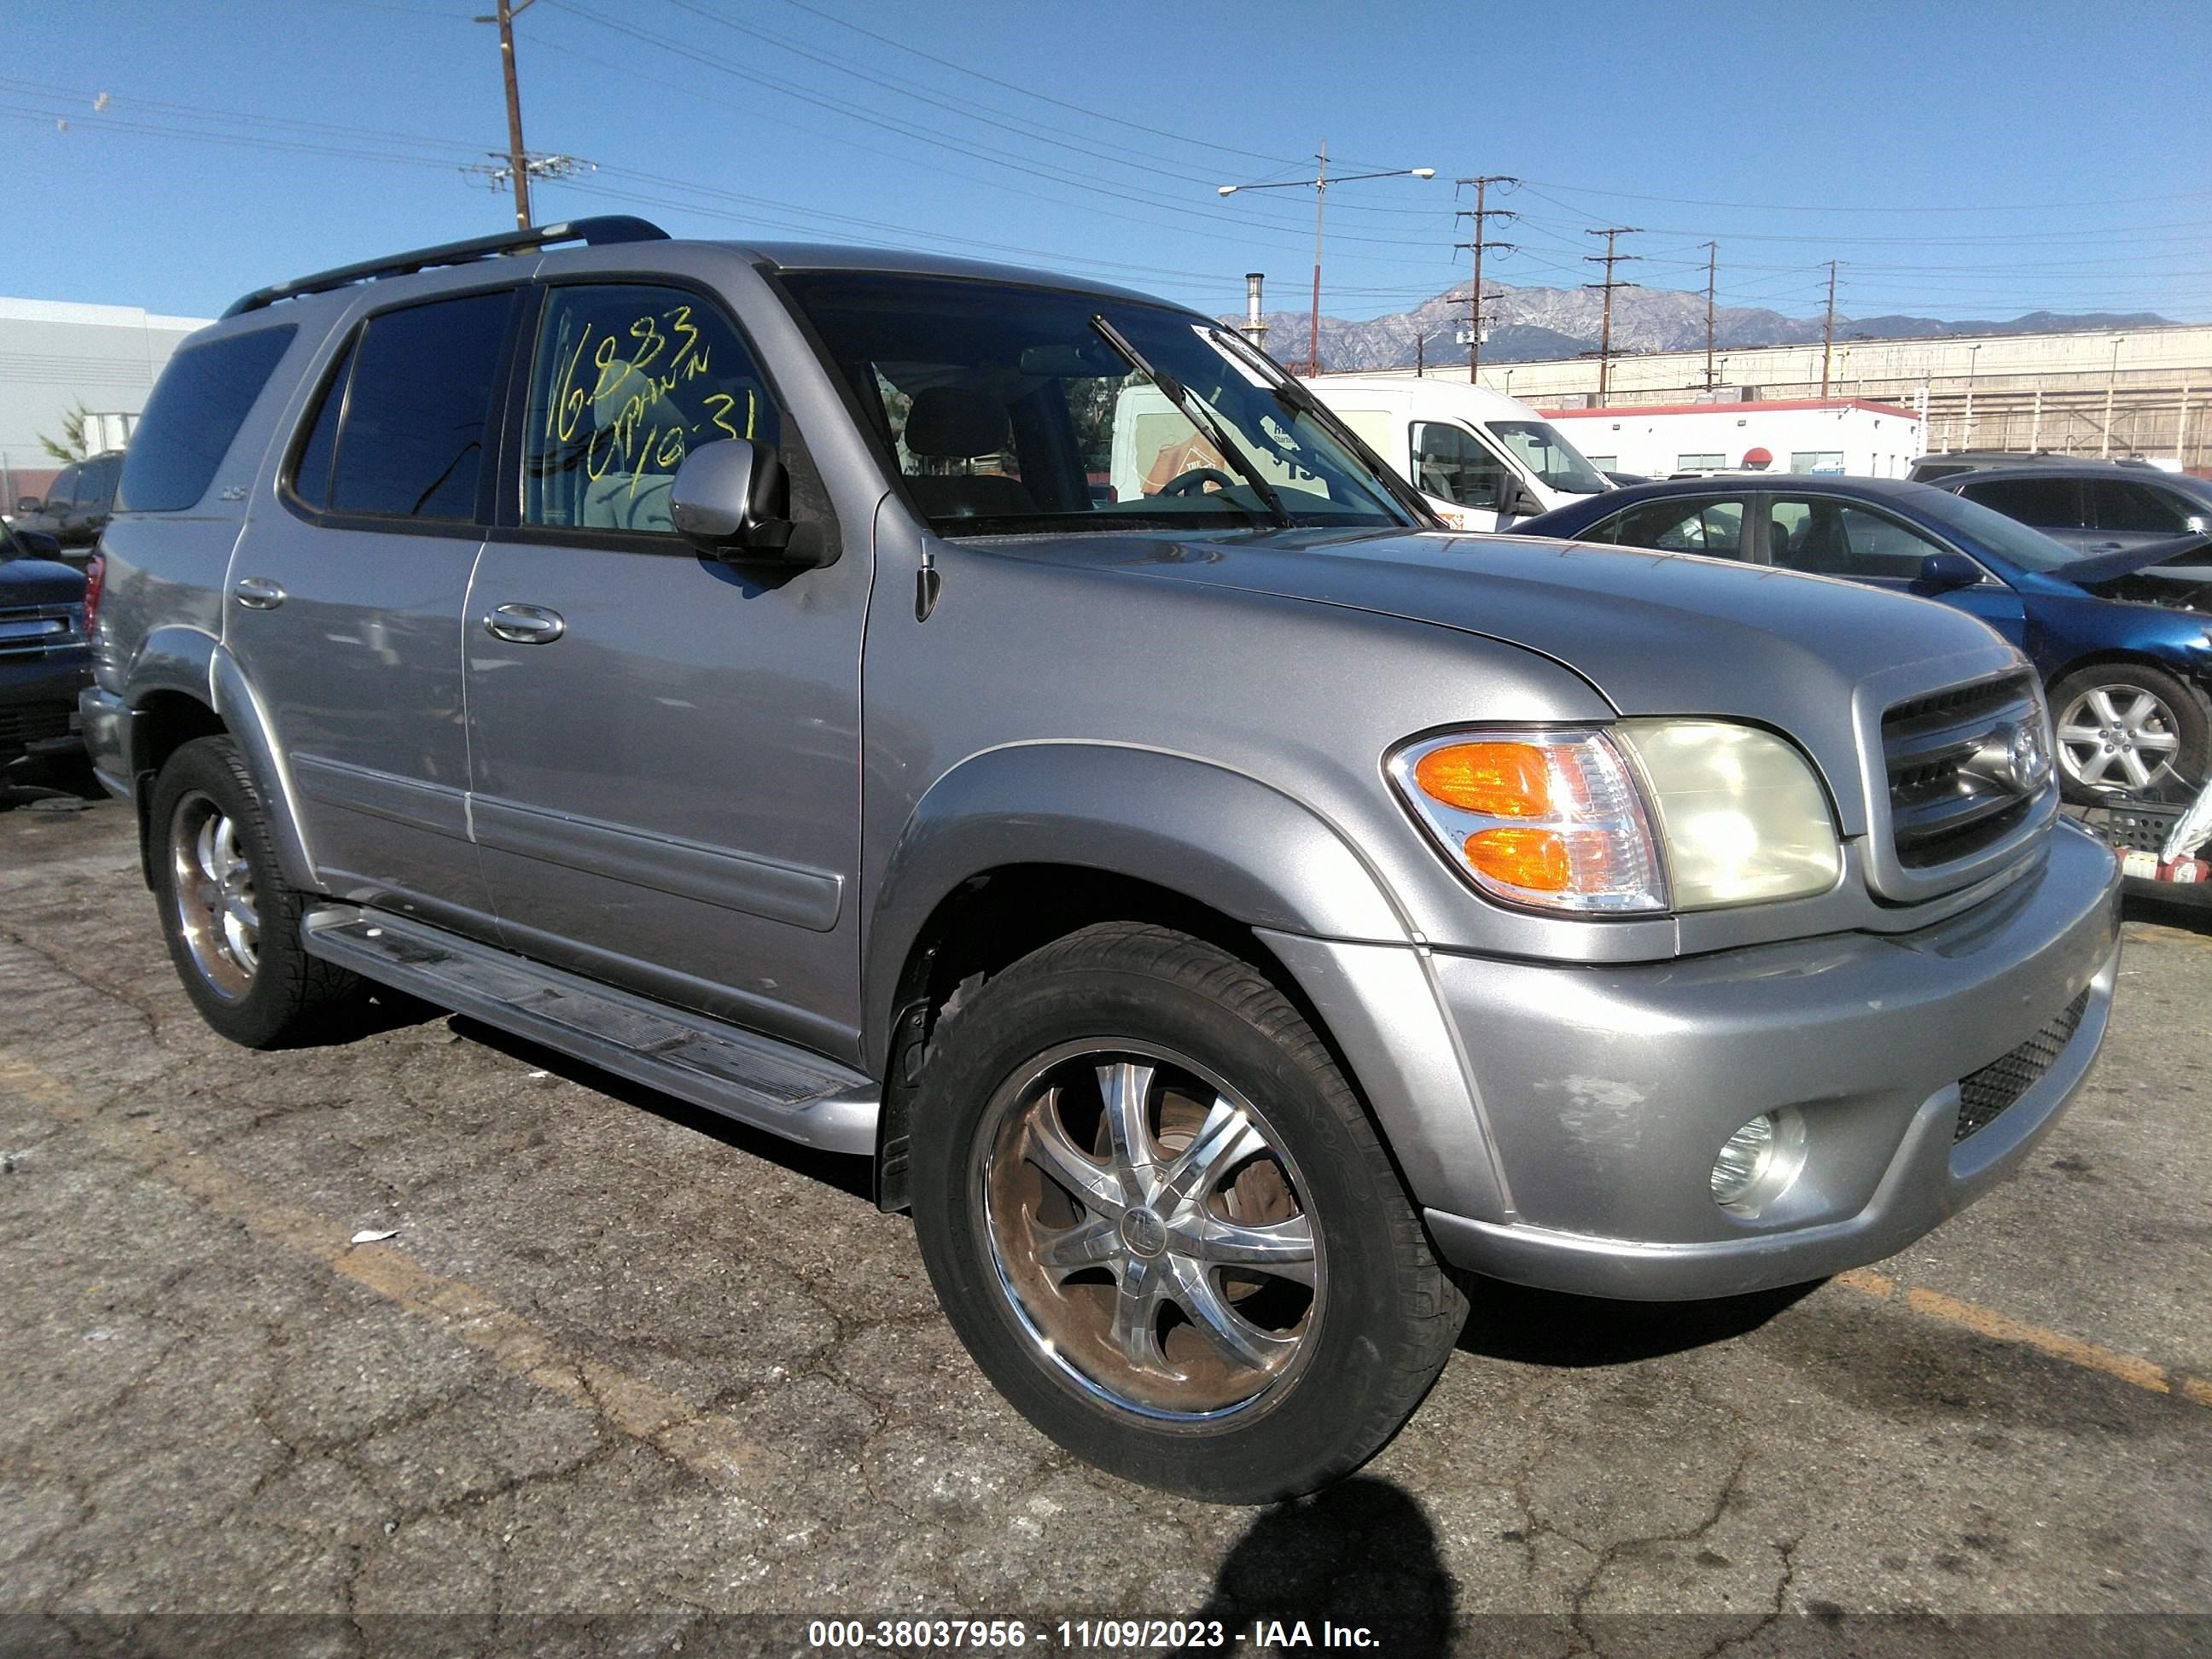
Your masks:
<path fill-rule="evenodd" d="M 2179 458 L 2192 471 L 2212 467 L 2212 325 L 2205 323 L 1836 341 L 1827 369 L 1832 398 L 1918 409 L 1924 394 L 1929 449 L 2143 453 Z M 1719 352 L 1714 380 L 1756 387 L 1770 400 L 1816 398 L 1820 345 Z M 1484 363 L 1482 385 L 1522 403 L 1568 405 L 1597 392 L 1597 358 Z M 1703 352 L 1619 356 L 1608 405 L 1686 403 L 1703 389 Z"/>

